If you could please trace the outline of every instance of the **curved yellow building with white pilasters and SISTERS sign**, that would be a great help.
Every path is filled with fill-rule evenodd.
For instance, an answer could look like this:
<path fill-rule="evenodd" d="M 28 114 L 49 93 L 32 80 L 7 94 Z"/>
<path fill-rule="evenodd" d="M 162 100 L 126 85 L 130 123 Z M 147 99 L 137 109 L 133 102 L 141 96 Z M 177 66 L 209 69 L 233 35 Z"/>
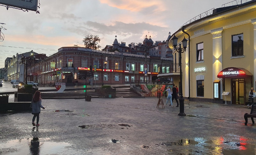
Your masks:
<path fill-rule="evenodd" d="M 190 100 L 246 104 L 256 84 L 256 1 L 211 9 L 192 18 L 171 35 L 182 53 L 183 96 Z M 174 50 L 174 62 L 179 62 Z M 173 74 L 174 83 L 180 83 Z"/>

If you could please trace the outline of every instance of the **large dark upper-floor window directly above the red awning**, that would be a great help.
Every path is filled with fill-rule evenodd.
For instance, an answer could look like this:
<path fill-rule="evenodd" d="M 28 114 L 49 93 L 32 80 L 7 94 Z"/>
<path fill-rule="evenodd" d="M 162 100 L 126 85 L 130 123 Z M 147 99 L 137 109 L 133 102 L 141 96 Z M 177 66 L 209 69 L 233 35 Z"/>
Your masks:
<path fill-rule="evenodd" d="M 232 57 L 244 55 L 244 35 L 237 34 L 232 36 Z"/>

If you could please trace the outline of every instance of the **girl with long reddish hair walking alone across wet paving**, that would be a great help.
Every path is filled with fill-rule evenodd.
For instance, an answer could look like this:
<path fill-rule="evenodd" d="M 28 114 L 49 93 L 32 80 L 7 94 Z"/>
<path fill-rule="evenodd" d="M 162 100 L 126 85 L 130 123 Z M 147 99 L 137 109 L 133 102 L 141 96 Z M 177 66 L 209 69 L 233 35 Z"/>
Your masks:
<path fill-rule="evenodd" d="M 33 126 L 39 126 L 39 114 L 41 112 L 41 108 L 45 109 L 42 106 L 41 92 L 40 91 L 36 91 L 34 93 L 33 99 L 30 103 L 30 107 L 32 108 L 32 114 L 34 115 L 33 119 L 32 119 L 32 125 Z M 37 117 L 37 125 L 34 123 L 36 117 Z"/>

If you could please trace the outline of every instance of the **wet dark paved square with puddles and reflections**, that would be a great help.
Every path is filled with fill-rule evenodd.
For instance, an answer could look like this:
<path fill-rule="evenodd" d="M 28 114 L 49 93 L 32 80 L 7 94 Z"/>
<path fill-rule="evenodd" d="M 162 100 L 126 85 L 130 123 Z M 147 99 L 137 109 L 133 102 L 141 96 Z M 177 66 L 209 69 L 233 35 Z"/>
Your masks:
<path fill-rule="evenodd" d="M 163 98 L 164 102 L 166 98 Z M 244 105 L 158 98 L 43 100 L 39 127 L 30 112 L 0 114 L 0 154 L 255 155 L 256 125 Z"/>

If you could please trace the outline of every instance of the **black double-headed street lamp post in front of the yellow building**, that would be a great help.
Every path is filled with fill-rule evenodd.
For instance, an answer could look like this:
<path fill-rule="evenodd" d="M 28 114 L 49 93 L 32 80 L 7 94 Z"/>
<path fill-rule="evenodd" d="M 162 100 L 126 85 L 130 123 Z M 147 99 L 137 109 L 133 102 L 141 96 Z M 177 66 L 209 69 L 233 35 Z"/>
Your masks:
<path fill-rule="evenodd" d="M 176 50 L 179 53 L 179 63 L 180 63 L 180 79 L 181 79 L 181 88 L 180 88 L 180 93 L 181 93 L 181 97 L 180 97 L 180 113 L 178 114 L 179 116 L 186 116 L 186 114 L 184 113 L 184 98 L 183 98 L 183 93 L 182 93 L 182 70 L 181 70 L 181 53 L 186 51 L 187 48 L 187 39 L 182 40 L 182 44 L 183 44 L 183 48 L 181 48 L 181 44 L 179 44 L 179 47 L 177 46 L 177 41 L 178 38 L 174 35 L 171 39 L 172 41 L 172 45 L 174 47 L 174 50 Z"/>

